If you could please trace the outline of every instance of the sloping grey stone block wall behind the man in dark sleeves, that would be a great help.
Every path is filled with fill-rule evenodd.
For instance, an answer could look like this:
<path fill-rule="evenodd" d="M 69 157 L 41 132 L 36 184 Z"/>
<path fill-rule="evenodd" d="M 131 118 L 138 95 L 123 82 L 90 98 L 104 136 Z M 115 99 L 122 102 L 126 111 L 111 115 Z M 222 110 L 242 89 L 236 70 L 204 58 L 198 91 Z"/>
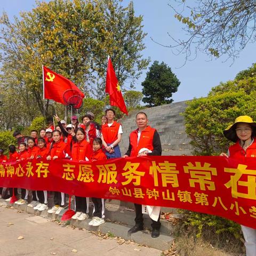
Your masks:
<path fill-rule="evenodd" d="M 180 115 L 185 109 L 187 101 L 175 102 L 163 106 L 145 108 L 140 111 L 148 115 L 149 125 L 157 129 L 162 143 L 162 155 L 191 155 L 192 146 L 190 139 L 185 132 L 184 117 Z M 122 124 L 123 136 L 119 143 L 122 155 L 129 146 L 129 134 L 137 128 L 135 115 L 138 110 L 131 111 L 129 116 L 124 117 L 119 122 Z"/>

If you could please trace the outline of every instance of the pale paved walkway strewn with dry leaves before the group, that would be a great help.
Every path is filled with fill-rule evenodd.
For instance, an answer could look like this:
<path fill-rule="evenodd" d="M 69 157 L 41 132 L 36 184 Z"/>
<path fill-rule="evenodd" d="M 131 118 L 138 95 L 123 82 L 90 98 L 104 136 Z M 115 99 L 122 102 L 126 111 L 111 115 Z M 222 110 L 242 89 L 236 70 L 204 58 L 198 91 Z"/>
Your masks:
<path fill-rule="evenodd" d="M 126 243 L 119 245 L 115 239 L 102 239 L 87 230 L 58 225 L 5 206 L 0 207 L 0 229 L 0 251 L 5 256 L 161 255 L 161 251 L 153 248 Z M 19 236 L 23 239 L 18 240 Z M 72 252 L 74 249 L 77 252 Z"/>

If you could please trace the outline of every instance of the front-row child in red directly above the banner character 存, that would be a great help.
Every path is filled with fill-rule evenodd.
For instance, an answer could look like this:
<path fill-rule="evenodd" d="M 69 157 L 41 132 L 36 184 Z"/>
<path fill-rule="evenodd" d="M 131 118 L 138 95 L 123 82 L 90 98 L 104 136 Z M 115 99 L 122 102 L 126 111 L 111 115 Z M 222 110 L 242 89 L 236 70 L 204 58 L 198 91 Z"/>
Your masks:
<path fill-rule="evenodd" d="M 39 138 L 37 141 L 39 153 L 36 157 L 36 159 L 41 159 L 42 161 L 46 160 L 47 155 L 49 155 L 49 149 L 46 147 L 46 142 L 44 138 Z M 34 206 L 34 210 L 38 210 L 39 212 L 47 210 L 47 191 L 46 190 L 37 190 L 37 197 L 39 199 L 39 204 Z"/>

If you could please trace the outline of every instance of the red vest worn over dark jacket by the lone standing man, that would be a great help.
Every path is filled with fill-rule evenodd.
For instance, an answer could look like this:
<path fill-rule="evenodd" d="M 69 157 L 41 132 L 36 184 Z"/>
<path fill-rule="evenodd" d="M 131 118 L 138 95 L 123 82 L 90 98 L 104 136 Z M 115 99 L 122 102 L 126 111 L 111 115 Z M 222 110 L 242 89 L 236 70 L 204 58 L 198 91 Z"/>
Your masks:
<path fill-rule="evenodd" d="M 138 143 L 138 129 L 134 130 L 130 134 L 130 143 L 132 146 L 131 156 L 138 156 L 141 148 L 148 148 L 153 150 L 153 138 L 156 129 L 147 126 L 140 134 L 140 140 Z"/>

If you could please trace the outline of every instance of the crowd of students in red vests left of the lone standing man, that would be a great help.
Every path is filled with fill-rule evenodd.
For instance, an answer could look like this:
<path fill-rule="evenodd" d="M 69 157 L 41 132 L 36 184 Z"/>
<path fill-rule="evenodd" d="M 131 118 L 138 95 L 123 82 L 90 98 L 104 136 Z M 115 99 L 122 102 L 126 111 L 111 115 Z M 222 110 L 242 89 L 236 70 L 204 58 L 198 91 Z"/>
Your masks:
<path fill-rule="evenodd" d="M 109 118 L 107 118 L 109 116 Z M 56 115 L 55 119 L 58 125 L 53 127 L 50 125 L 47 129 L 41 129 L 38 132 L 32 130 L 30 136 L 23 136 L 19 131 L 13 133 L 13 137 L 17 139 L 18 151 L 14 145 L 9 146 L 9 158 L 3 155 L 3 149 L 0 149 L 0 162 L 18 162 L 24 159 L 42 158 L 47 161 L 55 159 L 68 158 L 73 161 L 97 161 L 108 158 L 113 158 L 113 155 L 118 156 L 118 142 L 121 140 L 121 131 L 117 134 L 110 132 L 111 135 L 105 134 L 103 126 L 107 123 L 107 127 L 111 124 L 117 126 L 114 122 L 115 110 L 107 109 L 106 116 L 102 117 L 102 126 L 93 121 L 94 115 L 89 112 L 82 117 L 82 123 L 78 122 L 76 116 L 72 117 L 71 124 L 66 124 L 64 120 Z M 118 124 L 118 126 L 121 126 Z M 113 139 L 113 140 L 109 140 Z M 117 142 L 116 142 L 117 141 Z M 110 145 L 102 148 L 102 144 Z M 115 148 L 115 149 L 114 149 Z M 118 148 L 119 149 L 119 148 Z M 119 150 L 120 151 L 120 150 Z M 6 201 L 11 201 L 13 196 L 17 196 L 17 188 L 9 188 L 10 197 Z M 48 210 L 49 213 L 59 214 L 65 205 L 65 194 L 59 191 L 54 191 L 54 206 Z M 2 194 L 2 191 L 0 191 Z M 44 211 L 47 206 L 47 191 L 32 191 L 33 198 L 28 203 L 29 191 L 21 188 L 21 197 L 15 201 L 15 204 L 28 204 L 28 207 L 33 207 L 34 210 Z M 102 198 L 92 198 L 94 204 L 93 218 L 89 225 L 99 226 L 104 223 L 105 202 Z M 85 220 L 89 218 L 89 198 L 75 196 L 76 213 L 73 219 Z"/>

